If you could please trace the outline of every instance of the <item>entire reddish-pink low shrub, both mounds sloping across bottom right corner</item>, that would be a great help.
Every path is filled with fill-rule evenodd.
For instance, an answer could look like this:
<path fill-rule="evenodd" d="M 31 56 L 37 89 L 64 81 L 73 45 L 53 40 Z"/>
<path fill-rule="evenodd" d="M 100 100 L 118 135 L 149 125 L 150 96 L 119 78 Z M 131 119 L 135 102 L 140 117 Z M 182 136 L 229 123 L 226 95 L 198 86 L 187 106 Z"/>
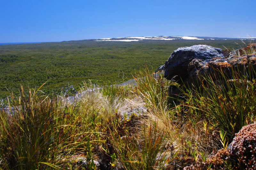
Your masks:
<path fill-rule="evenodd" d="M 229 150 L 220 149 L 205 162 L 197 161 L 184 170 L 196 169 L 256 169 L 256 122 L 244 126 L 234 137 Z"/>

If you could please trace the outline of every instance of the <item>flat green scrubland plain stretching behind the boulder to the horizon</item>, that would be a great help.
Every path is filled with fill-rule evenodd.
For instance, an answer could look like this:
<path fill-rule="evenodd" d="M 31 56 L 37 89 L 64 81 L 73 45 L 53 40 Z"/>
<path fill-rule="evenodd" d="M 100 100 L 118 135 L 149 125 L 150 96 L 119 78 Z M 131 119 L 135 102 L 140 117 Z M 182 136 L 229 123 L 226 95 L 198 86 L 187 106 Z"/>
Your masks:
<path fill-rule="evenodd" d="M 132 74 L 155 70 L 179 47 L 207 44 L 225 49 L 239 48 L 237 40 L 143 40 L 138 42 L 63 41 L 0 46 L 0 98 L 20 85 L 58 92 L 63 86 L 77 89 L 90 79 L 100 85 L 118 84 Z M 239 42 L 241 43 L 241 42 Z"/>

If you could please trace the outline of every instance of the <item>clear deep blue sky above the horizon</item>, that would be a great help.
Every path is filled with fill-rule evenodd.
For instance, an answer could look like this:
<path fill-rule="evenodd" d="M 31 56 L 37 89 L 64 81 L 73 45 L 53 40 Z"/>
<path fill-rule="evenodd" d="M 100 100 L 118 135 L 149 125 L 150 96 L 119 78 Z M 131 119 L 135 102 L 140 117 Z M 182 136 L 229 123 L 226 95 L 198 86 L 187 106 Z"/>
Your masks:
<path fill-rule="evenodd" d="M 256 37 L 256 0 L 1 0 L 0 42 Z"/>

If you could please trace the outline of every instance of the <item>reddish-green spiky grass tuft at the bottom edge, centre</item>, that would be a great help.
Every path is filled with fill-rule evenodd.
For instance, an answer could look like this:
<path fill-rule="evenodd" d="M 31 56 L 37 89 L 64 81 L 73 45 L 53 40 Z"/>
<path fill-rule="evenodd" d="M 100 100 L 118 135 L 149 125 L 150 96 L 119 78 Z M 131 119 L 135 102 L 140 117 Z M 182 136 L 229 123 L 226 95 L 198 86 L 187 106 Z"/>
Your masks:
<path fill-rule="evenodd" d="M 128 129 L 122 134 L 124 136 L 117 129 L 115 126 L 110 129 L 110 142 L 115 149 L 116 160 L 125 169 L 163 169 L 168 163 L 167 154 L 164 152 L 166 135 L 157 133 L 156 124 L 144 129 L 141 141 L 139 135 L 130 134 Z"/>

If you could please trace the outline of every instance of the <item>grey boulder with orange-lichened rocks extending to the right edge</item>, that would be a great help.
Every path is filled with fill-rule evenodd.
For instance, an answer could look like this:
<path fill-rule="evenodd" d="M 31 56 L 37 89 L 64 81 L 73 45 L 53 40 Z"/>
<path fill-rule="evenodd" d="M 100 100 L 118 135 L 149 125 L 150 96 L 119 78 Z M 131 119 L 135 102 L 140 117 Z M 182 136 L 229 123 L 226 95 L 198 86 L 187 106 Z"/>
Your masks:
<path fill-rule="evenodd" d="M 253 46 L 254 47 L 254 46 Z M 196 84 L 201 75 L 218 78 L 220 70 L 231 78 L 231 70 L 249 71 L 256 69 L 256 55 L 242 55 L 225 57 L 220 48 L 208 45 L 194 45 L 175 50 L 164 65 L 156 71 L 163 70 L 164 77 L 177 81 L 179 84 L 187 82 Z M 213 76 L 214 75 L 214 76 Z"/>

